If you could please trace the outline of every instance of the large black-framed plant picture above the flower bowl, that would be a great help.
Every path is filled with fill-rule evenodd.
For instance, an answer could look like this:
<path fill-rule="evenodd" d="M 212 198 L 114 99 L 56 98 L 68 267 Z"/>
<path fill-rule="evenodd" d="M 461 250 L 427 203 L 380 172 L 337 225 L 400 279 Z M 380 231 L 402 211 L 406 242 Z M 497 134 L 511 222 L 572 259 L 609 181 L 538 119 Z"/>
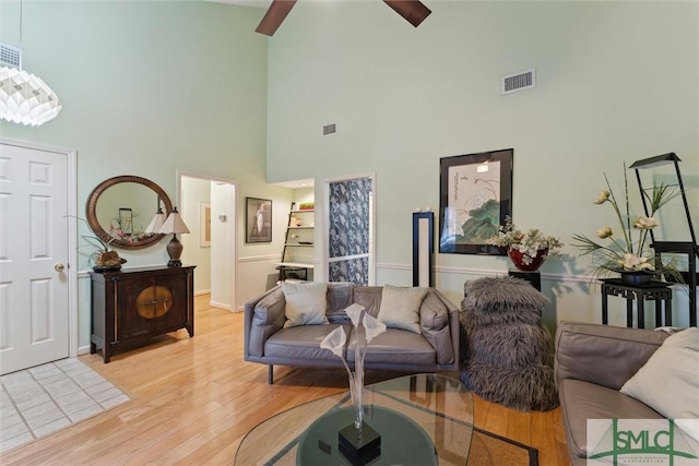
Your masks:
<path fill-rule="evenodd" d="M 439 159 L 439 252 L 507 255 L 486 241 L 512 216 L 514 150 Z"/>

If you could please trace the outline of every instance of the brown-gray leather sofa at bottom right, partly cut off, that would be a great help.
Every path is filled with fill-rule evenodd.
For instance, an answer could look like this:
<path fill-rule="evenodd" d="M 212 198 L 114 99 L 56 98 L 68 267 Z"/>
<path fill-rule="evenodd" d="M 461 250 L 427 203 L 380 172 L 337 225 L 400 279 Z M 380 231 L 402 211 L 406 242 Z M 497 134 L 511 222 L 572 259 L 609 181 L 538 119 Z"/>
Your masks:
<path fill-rule="evenodd" d="M 561 322 L 554 371 L 570 462 L 587 464 L 588 419 L 662 419 L 619 392 L 670 335 L 665 332 Z"/>

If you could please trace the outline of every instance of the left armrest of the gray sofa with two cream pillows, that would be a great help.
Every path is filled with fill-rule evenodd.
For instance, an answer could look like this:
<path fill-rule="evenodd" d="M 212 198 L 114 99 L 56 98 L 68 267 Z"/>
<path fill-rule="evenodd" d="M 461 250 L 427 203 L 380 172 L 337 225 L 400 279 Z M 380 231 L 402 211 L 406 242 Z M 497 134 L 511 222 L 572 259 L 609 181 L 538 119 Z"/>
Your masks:
<path fill-rule="evenodd" d="M 284 326 L 286 300 L 277 286 L 245 304 L 245 359 L 264 356 L 264 342 Z"/>

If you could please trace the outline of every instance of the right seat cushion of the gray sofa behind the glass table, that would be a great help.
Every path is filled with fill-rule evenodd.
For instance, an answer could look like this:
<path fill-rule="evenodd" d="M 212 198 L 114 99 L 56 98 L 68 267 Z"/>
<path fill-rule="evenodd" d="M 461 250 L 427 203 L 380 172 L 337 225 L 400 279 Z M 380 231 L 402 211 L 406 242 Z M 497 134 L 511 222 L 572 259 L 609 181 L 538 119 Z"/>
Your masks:
<path fill-rule="evenodd" d="M 356 331 L 350 335 L 347 361 L 354 363 Z M 437 362 L 435 348 L 419 334 L 398 328 L 387 328 L 367 346 L 365 362 L 396 365 L 426 365 Z"/>

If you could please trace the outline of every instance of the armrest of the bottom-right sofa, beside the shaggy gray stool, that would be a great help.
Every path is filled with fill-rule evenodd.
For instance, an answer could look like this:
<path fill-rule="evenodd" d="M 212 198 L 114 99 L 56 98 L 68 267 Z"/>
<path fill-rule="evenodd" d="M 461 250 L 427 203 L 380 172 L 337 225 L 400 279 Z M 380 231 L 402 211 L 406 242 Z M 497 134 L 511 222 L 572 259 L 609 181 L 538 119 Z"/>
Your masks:
<path fill-rule="evenodd" d="M 561 322 L 556 330 L 556 383 L 577 379 L 619 390 L 668 336 L 653 330 Z"/>

